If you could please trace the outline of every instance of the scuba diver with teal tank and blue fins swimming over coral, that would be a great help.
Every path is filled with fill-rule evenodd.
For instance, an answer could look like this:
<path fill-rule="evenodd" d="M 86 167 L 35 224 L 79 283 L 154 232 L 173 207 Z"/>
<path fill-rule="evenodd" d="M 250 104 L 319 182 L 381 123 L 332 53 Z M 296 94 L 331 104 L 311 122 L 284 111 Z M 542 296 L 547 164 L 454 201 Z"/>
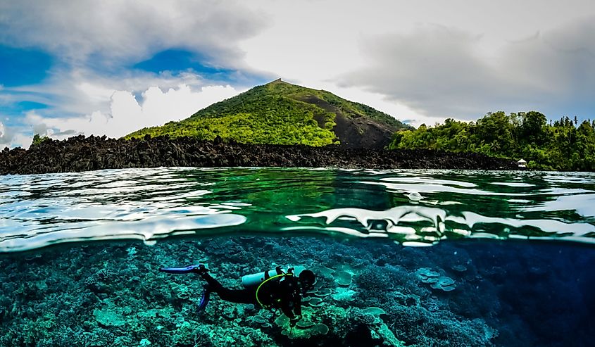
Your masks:
<path fill-rule="evenodd" d="M 171 274 L 194 273 L 206 280 L 205 291 L 199 303 L 199 311 L 208 304 L 211 293 L 232 303 L 247 303 L 261 308 L 279 308 L 289 318 L 289 325 L 294 327 L 301 320 L 301 296 L 313 288 L 314 272 L 303 267 L 289 267 L 283 272 L 280 266 L 275 270 L 258 272 L 242 277 L 244 289 L 227 289 L 208 274 L 203 265 L 187 267 L 162 267 L 159 269 Z"/>

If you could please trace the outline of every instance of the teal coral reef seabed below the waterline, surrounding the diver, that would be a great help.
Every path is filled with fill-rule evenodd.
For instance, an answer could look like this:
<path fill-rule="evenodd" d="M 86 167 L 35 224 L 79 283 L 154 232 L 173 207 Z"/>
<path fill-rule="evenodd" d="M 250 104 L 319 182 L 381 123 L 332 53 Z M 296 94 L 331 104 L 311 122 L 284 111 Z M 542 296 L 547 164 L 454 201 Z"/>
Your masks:
<path fill-rule="evenodd" d="M 263 247 L 266 257 L 260 256 Z M 60 246 L 4 255 L 0 346 L 544 345 L 539 334 L 548 333 L 532 326 L 522 305 L 542 313 L 550 329 L 553 322 L 535 301 L 527 300 L 531 293 L 513 295 L 507 282 L 499 282 L 503 274 L 498 267 L 481 264 L 489 258 L 481 251 L 456 246 L 457 257 L 446 257 L 453 247 L 428 251 L 306 237 L 218 237 L 155 246 Z M 537 258 L 531 252 L 515 256 L 520 257 L 517 263 Z M 592 258 L 582 261 L 588 265 Z M 318 277 L 303 300 L 303 319 L 292 328 L 280 312 L 229 303 L 215 294 L 199 313 L 200 277 L 157 271 L 199 262 L 208 263 L 213 276 L 230 288 L 241 286 L 242 275 L 275 265 L 303 265 Z M 577 293 L 575 284 L 554 282 L 558 280 L 541 268 L 525 267 L 522 272 L 508 263 L 501 262 L 508 280 L 521 281 L 528 271 L 536 290 L 556 284 L 560 295 L 562 290 Z M 593 281 L 593 276 L 584 280 L 589 278 Z M 449 290 L 451 282 L 455 290 Z M 579 319 L 560 329 L 586 324 Z M 564 346 L 568 339 L 558 337 L 560 343 L 551 346 Z"/>

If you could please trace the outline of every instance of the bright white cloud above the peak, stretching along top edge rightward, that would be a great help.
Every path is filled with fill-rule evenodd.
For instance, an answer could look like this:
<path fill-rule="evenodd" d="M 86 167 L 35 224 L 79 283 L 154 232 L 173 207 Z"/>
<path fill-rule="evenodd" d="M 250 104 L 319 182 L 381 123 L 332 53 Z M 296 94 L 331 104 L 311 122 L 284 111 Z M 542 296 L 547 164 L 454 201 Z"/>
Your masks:
<path fill-rule="evenodd" d="M 309 82 L 368 65 L 362 51 L 374 37 L 405 34 L 420 25 L 458 27 L 481 36 L 478 48 L 498 51 L 508 40 L 529 37 L 595 13 L 590 0 L 255 0 L 272 21 L 239 43 L 253 68 Z"/>

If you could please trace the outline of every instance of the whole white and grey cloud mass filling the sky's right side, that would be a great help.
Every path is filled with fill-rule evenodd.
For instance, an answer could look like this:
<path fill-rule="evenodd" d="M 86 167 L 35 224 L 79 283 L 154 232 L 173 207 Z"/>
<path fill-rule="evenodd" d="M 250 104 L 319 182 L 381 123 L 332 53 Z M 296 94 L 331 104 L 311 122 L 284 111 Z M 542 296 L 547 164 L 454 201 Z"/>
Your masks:
<path fill-rule="evenodd" d="M 352 100 L 416 125 L 476 119 L 502 108 L 572 112 L 573 105 L 593 99 L 584 94 L 594 89 L 581 81 L 595 69 L 547 47 L 556 46 L 558 36 L 567 51 L 595 42 L 588 25 L 595 21 L 584 19 L 595 13 L 589 0 L 259 3 L 274 13 L 274 24 L 240 43 L 249 65 L 308 87 L 359 90 Z M 518 42 L 536 32 L 543 34 L 541 48 Z M 544 58 L 555 64 L 546 68 Z M 531 78 L 523 77 L 537 66 Z"/>

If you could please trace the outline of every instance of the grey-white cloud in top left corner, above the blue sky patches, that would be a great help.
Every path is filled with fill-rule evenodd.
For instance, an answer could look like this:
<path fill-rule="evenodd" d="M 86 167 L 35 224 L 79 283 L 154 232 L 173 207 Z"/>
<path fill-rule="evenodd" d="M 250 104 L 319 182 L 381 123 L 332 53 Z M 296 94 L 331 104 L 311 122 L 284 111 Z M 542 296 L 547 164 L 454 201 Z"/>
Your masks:
<path fill-rule="evenodd" d="M 80 65 L 138 61 L 170 47 L 237 62 L 237 42 L 267 19 L 242 1 L 1 1 L 0 42 L 36 46 Z M 94 58 L 95 56 L 95 58 Z"/>

